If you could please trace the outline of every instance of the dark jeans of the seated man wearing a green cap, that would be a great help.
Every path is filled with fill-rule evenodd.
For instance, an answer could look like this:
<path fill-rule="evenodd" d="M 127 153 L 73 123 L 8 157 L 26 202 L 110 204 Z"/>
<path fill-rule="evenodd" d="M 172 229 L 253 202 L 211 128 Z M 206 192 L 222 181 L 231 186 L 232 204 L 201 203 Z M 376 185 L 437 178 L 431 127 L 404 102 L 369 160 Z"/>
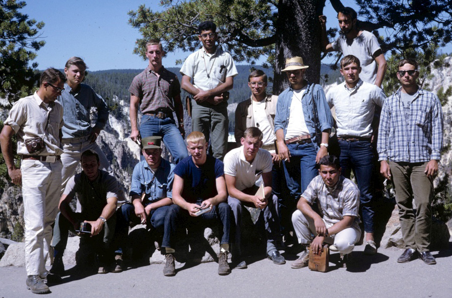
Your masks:
<path fill-rule="evenodd" d="M 149 203 L 151 204 L 151 203 Z M 146 204 L 145 207 L 149 204 Z M 151 210 L 147 224 L 152 225 L 157 233 L 163 234 L 163 224 L 165 223 L 166 212 L 169 206 L 162 206 Z M 121 210 L 116 212 L 117 223 L 115 238 L 118 241 L 116 253 L 123 253 L 123 248 L 126 246 L 127 236 L 129 234 L 129 224 L 131 222 L 140 224 L 141 219 L 135 214 L 135 207 L 132 203 L 127 203 L 121 206 Z"/>

